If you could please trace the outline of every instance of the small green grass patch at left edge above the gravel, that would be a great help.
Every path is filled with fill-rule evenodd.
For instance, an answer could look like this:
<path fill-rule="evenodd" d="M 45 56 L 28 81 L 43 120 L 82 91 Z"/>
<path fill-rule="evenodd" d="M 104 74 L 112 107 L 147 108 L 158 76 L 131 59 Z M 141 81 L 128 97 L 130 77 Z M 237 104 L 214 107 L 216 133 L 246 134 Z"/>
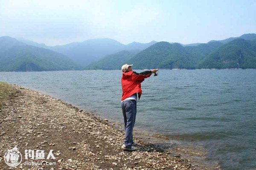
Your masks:
<path fill-rule="evenodd" d="M 6 101 L 12 98 L 16 92 L 17 90 L 12 85 L 6 82 L 0 82 L 0 109 L 2 109 Z"/>

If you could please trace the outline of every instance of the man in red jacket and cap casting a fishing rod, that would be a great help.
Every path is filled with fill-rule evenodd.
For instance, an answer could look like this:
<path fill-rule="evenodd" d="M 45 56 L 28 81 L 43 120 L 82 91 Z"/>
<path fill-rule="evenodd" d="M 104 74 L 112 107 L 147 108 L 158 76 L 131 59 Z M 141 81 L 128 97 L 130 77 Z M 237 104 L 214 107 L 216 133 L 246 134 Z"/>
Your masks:
<path fill-rule="evenodd" d="M 136 142 L 133 141 L 132 131 L 135 123 L 137 112 L 137 94 L 140 99 L 142 90 L 140 83 L 145 78 L 151 76 L 152 73 L 156 73 L 157 69 L 151 71 L 143 71 L 142 73 L 136 73 L 131 69 L 132 65 L 125 64 L 122 66 L 122 113 L 125 122 L 125 140 L 122 145 L 124 150 L 136 150 Z"/>

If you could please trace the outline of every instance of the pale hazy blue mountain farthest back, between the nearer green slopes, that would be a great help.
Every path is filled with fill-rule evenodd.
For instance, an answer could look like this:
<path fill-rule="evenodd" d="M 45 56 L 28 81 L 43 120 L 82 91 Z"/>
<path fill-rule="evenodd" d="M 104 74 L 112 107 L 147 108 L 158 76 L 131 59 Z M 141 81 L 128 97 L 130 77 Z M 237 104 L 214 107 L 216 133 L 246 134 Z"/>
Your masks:
<path fill-rule="evenodd" d="M 145 48 L 148 48 L 149 46 L 156 43 L 156 41 L 151 41 L 148 43 L 132 42 L 128 45 L 124 45 L 113 39 L 101 38 L 86 40 L 84 42 L 72 42 L 66 45 L 47 46 L 45 44 L 39 44 L 37 42 L 26 39 L 19 40 L 27 45 L 48 48 L 50 50 L 59 52 L 84 66 L 89 65 L 90 63 L 101 59 L 102 57 L 105 57 L 109 54 L 113 54 L 122 50 L 142 51 Z"/>

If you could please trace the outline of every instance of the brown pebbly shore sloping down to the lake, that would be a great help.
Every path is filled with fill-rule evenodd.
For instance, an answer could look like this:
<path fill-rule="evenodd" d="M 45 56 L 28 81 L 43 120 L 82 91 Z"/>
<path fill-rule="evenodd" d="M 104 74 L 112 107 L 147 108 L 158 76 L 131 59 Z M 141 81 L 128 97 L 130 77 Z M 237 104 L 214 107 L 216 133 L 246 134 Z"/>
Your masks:
<path fill-rule="evenodd" d="M 137 150 L 124 151 L 123 137 L 124 132 L 108 120 L 52 96 L 0 82 L 1 170 L 220 170 L 218 164 L 206 167 L 180 156 L 181 148 L 163 150 L 136 137 Z M 17 167 L 9 167 L 4 160 L 7 149 L 13 147 L 22 154 Z M 28 154 L 25 159 L 26 150 L 44 150 L 45 158 L 36 159 L 35 154 L 32 159 Z M 50 150 L 55 159 L 46 159 Z"/>

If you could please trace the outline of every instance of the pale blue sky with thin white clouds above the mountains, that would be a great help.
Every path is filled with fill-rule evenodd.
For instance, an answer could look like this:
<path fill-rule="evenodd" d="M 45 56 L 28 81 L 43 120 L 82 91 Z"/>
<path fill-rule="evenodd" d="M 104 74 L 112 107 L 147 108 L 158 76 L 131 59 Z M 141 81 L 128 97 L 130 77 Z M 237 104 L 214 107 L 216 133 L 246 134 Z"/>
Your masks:
<path fill-rule="evenodd" d="M 206 43 L 256 33 L 256 0 L 0 0 L 0 37 Z"/>

